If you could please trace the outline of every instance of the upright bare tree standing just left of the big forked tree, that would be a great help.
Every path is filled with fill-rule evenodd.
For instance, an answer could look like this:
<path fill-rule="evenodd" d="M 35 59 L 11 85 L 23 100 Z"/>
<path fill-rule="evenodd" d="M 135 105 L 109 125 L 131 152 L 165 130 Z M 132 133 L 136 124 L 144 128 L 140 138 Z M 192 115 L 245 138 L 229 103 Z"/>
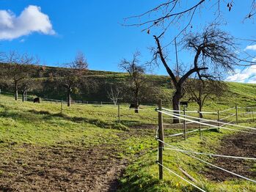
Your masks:
<path fill-rule="evenodd" d="M 142 92 L 141 89 L 145 84 L 145 67 L 139 65 L 140 53 L 134 53 L 131 61 L 122 59 L 120 62 L 120 69 L 126 71 L 129 74 L 129 89 L 132 92 L 132 100 L 135 108 L 135 113 L 139 113 L 139 105 L 141 101 Z"/>

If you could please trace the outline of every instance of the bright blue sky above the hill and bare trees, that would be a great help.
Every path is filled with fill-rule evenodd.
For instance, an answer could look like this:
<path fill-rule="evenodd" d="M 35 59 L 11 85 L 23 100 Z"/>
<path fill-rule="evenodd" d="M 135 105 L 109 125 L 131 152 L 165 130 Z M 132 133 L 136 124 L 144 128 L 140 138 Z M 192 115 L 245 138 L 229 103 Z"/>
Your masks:
<path fill-rule="evenodd" d="M 4 18 L 8 18 L 7 13 L 16 18 L 17 25 L 12 36 L 12 31 L 7 31 L 8 34 L 0 33 L 1 51 L 28 52 L 38 56 L 41 64 L 52 66 L 70 62 L 77 51 L 82 51 L 92 70 L 119 71 L 117 65 L 120 59 L 131 58 L 134 51 L 142 52 L 142 62 L 151 58 L 147 48 L 155 45 L 152 35 L 141 32 L 142 28 L 125 27 L 120 23 L 123 23 L 122 18 L 145 12 L 158 4 L 158 1 L 2 0 L 0 4 L 0 29 L 3 28 L 3 22 L 6 22 Z M 31 5 L 35 7 L 29 7 Z M 242 22 L 248 10 L 249 4 L 242 1 L 235 1 L 232 12 L 222 6 L 227 21 L 227 26 L 222 28 L 235 37 L 255 39 L 254 21 Z M 23 19 L 19 18 L 21 12 Z M 39 26 L 35 23 L 28 24 L 31 21 L 28 18 L 33 17 L 33 14 L 42 22 Z M 192 22 L 192 30 L 200 30 L 211 18 L 211 11 L 197 15 L 197 19 Z M 175 33 L 175 29 L 169 32 L 164 38 L 164 43 L 169 42 Z M 241 49 L 246 48 L 248 44 L 241 42 Z M 255 51 L 249 51 L 256 53 L 256 48 Z M 174 53 L 173 46 L 170 46 L 170 62 L 175 61 Z M 184 64 L 191 62 L 191 55 L 187 52 L 180 52 L 179 58 Z M 236 71 L 239 70 L 241 73 L 241 69 Z M 161 66 L 156 67 L 154 73 L 167 74 Z"/>

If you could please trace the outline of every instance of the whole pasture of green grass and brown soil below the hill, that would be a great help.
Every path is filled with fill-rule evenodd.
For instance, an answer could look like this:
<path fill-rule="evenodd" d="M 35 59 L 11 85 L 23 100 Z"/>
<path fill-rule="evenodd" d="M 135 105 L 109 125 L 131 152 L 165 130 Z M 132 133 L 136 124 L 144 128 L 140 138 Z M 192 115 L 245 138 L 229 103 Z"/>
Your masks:
<path fill-rule="evenodd" d="M 206 103 L 204 110 L 254 104 L 256 92 L 252 85 L 229 86 L 227 97 Z M 119 124 L 117 106 L 74 104 L 70 108 L 63 106 L 60 113 L 60 103 L 22 103 L 1 95 L 0 191 L 103 191 L 117 190 L 117 187 L 118 191 L 197 191 L 166 170 L 164 180 L 158 180 L 155 108 L 142 106 L 139 114 L 134 114 L 122 105 Z M 188 110 L 196 108 L 191 103 Z M 207 118 L 216 119 L 215 116 Z M 171 119 L 165 116 L 164 122 L 169 123 Z M 255 127 L 255 122 L 241 122 L 241 125 Z M 182 132 L 179 126 L 165 128 L 166 136 L 179 132 Z M 187 141 L 182 136 L 166 137 L 165 141 L 197 152 L 254 155 L 255 137 L 235 134 L 230 130 L 206 130 L 202 139 L 198 133 L 191 133 Z M 238 144 L 235 149 L 233 143 L 237 138 L 241 146 Z M 226 145 L 234 149 L 224 151 Z M 247 151 L 242 145 L 251 150 Z M 200 158 L 256 179 L 256 164 L 252 160 Z M 183 177 L 186 176 L 180 169 L 185 170 L 205 191 L 256 191 L 255 183 L 225 175 L 180 152 L 164 150 L 164 164 Z M 232 164 L 234 166 L 230 166 Z M 116 182 L 114 188 L 109 187 L 113 182 Z"/>

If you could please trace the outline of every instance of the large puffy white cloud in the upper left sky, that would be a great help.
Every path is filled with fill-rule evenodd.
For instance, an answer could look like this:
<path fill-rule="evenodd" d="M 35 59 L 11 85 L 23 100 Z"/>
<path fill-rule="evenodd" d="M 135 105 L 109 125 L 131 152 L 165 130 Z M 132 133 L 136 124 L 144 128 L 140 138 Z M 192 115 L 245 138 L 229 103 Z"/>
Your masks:
<path fill-rule="evenodd" d="M 48 15 L 40 7 L 29 5 L 19 16 L 10 10 L 0 10 L 0 40 L 13 40 L 33 32 L 55 34 Z"/>

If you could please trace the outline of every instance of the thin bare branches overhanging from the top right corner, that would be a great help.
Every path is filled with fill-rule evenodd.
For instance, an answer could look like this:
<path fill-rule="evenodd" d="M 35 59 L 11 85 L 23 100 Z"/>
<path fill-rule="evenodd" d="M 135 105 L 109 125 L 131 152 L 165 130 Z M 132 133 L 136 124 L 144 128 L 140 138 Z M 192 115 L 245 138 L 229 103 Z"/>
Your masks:
<path fill-rule="evenodd" d="M 223 17 L 224 11 L 232 12 L 233 7 L 239 10 L 240 7 L 237 7 L 238 4 L 236 2 L 238 0 L 164 0 L 151 10 L 147 10 L 140 15 L 125 18 L 125 23 L 127 21 L 128 23 L 124 25 L 142 27 L 142 32 L 147 32 L 147 34 L 153 33 L 158 37 L 158 40 L 161 40 L 161 37 L 169 32 L 168 38 L 170 42 L 167 43 L 165 41 L 165 45 L 163 43 L 162 49 L 164 50 L 169 45 L 175 43 L 180 35 L 186 37 L 189 30 L 195 28 L 193 27 L 193 20 L 199 21 L 200 17 L 202 17 L 208 18 L 208 21 L 205 21 L 207 23 L 227 23 Z M 244 20 L 254 18 L 256 15 L 256 1 L 243 1 L 243 6 L 247 7 L 247 9 L 239 12 L 241 18 L 244 18 Z M 208 15 L 212 15 L 212 17 L 208 17 Z M 199 27 L 201 28 L 201 26 Z M 255 42 L 252 38 L 236 38 L 235 40 L 249 43 Z M 241 62 L 256 64 L 253 60 L 255 55 L 251 55 L 244 48 L 239 48 L 236 51 L 239 51 L 241 56 L 244 57 L 244 59 L 241 59 Z"/>

